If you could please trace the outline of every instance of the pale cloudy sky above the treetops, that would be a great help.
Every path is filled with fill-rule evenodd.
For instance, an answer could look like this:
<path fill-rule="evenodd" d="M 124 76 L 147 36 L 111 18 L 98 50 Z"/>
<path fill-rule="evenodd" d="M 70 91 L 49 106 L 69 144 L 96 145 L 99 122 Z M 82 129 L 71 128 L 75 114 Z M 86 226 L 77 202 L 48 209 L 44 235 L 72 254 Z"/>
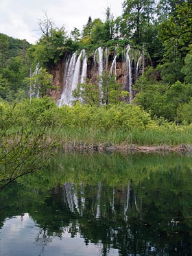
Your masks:
<path fill-rule="evenodd" d="M 74 27 L 80 31 L 91 16 L 105 19 L 106 8 L 113 16 L 121 15 L 123 0 L 0 0 L 0 33 L 36 43 L 40 38 L 38 21 L 45 13 L 56 27 L 65 27 L 70 34 Z"/>

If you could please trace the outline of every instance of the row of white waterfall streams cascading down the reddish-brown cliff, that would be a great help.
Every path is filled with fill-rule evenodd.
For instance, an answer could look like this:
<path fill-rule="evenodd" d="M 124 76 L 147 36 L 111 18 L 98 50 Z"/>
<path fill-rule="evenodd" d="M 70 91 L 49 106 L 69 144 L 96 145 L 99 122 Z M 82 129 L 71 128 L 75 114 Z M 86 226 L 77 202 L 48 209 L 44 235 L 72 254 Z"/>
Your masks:
<path fill-rule="evenodd" d="M 140 52 L 138 50 L 134 51 L 132 55 L 130 54 L 130 45 L 128 45 L 123 51 L 124 54 L 121 54 L 122 64 L 119 67 L 122 69 L 118 69 L 117 71 L 117 53 L 115 49 L 115 56 L 112 60 L 112 63 L 109 67 L 108 61 L 111 59 L 111 56 L 108 52 L 108 48 L 103 49 L 99 47 L 95 50 L 94 58 L 88 58 L 86 56 L 86 51 L 83 49 L 80 55 L 77 57 L 77 54 L 74 53 L 71 58 L 66 58 L 65 62 L 65 70 L 64 70 L 64 89 L 62 91 L 62 95 L 60 100 L 58 100 L 58 106 L 62 106 L 63 104 L 71 105 L 71 101 L 73 100 L 72 91 L 77 88 L 77 84 L 86 83 L 86 79 L 89 78 L 91 82 L 97 83 L 98 76 L 101 77 L 103 71 L 109 71 L 112 74 L 118 75 L 119 81 L 122 83 L 123 89 L 127 89 L 130 92 L 129 102 L 132 104 L 133 91 L 132 91 L 132 83 L 139 77 L 139 67 L 141 66 L 142 55 L 140 56 Z M 109 58 L 110 56 L 110 58 Z M 125 56 L 125 58 L 123 58 Z M 132 74 L 132 63 L 134 60 L 134 74 Z M 118 60 L 119 61 L 119 60 Z M 119 71 L 121 73 L 119 73 Z M 134 75 L 134 76 L 133 76 Z M 118 82 L 118 80 L 117 80 Z M 102 81 L 101 78 L 99 80 L 99 91 L 100 91 L 100 100 L 102 100 Z"/>

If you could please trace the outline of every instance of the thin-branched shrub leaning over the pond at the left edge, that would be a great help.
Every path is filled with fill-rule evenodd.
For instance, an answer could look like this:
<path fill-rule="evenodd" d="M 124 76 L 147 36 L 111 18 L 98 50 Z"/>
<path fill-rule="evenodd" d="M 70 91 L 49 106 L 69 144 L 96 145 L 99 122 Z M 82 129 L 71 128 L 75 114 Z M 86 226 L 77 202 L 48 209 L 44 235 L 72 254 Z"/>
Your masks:
<path fill-rule="evenodd" d="M 0 105 L 0 189 L 40 170 L 50 155 L 51 146 L 44 136 L 46 128 L 24 127 L 21 114 L 15 106 Z"/>

